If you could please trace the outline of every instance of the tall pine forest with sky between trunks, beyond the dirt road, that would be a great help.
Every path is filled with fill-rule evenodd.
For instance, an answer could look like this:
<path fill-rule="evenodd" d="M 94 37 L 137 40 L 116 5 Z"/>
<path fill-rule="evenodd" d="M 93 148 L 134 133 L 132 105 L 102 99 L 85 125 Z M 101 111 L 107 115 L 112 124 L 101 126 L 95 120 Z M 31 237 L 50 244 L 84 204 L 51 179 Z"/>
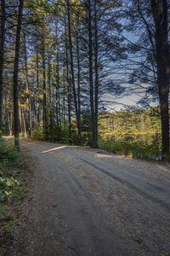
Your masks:
<path fill-rule="evenodd" d="M 105 148 L 107 115 L 123 114 L 126 127 L 139 111 L 143 125 L 145 109 L 168 160 L 169 4 L 1 0 L 0 137 L 14 135 L 18 149 L 20 136 Z M 135 104 L 122 103 L 132 94 Z"/>

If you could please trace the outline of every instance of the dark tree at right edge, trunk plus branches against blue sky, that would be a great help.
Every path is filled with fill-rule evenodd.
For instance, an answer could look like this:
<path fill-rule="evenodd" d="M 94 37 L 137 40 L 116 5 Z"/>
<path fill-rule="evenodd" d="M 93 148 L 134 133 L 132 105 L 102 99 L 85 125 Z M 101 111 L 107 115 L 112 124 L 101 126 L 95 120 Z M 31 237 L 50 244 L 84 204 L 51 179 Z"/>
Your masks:
<path fill-rule="evenodd" d="M 134 84 L 134 90 L 138 86 L 143 93 L 145 91 L 145 96 L 139 102 L 144 103 L 144 107 L 150 107 L 151 100 L 159 101 L 162 160 L 168 160 L 170 152 L 168 109 L 170 56 L 167 21 L 169 6 L 167 0 L 124 2 L 127 3 L 124 17 L 129 19 L 127 31 L 133 32 L 138 38 L 133 42 L 127 39 L 127 50 L 130 49 L 133 54 L 133 59 L 129 61 L 127 67 L 127 73 L 130 73 L 129 81 Z M 138 35 L 139 30 L 141 36 Z"/>

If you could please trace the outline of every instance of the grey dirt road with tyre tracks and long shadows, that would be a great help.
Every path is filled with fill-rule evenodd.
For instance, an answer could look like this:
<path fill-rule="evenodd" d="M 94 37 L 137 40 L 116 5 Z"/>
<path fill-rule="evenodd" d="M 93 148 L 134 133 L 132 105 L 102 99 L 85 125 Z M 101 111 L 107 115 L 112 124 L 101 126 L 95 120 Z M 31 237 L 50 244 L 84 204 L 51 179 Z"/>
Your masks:
<path fill-rule="evenodd" d="M 170 168 L 22 139 L 29 192 L 8 255 L 170 255 Z"/>

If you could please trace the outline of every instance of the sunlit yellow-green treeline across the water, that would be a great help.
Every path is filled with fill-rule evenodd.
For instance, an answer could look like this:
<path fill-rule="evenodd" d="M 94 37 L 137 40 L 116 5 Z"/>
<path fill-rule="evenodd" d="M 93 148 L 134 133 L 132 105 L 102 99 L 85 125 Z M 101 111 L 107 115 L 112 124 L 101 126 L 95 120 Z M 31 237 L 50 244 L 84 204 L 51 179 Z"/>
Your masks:
<path fill-rule="evenodd" d="M 139 109 L 99 115 L 101 137 L 142 133 L 161 133 L 158 109 Z"/>

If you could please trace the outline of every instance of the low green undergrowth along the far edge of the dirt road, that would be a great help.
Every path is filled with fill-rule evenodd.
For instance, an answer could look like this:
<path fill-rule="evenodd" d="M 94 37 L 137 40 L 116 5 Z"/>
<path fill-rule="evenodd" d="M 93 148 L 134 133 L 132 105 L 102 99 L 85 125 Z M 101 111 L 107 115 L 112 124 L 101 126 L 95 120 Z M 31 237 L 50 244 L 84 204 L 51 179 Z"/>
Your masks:
<path fill-rule="evenodd" d="M 69 131 L 63 127 L 60 130 L 59 136 L 56 135 L 48 137 L 50 142 L 58 143 L 70 143 L 69 141 Z M 84 136 L 85 133 L 82 133 L 82 142 L 83 146 L 88 145 L 88 137 Z M 45 139 L 42 131 L 42 127 L 35 129 L 32 132 L 32 138 L 37 140 L 47 140 Z M 72 131 L 71 143 L 78 145 L 77 132 Z M 100 149 L 105 149 L 108 152 L 115 154 L 129 155 L 133 158 L 142 158 L 142 159 L 157 159 L 161 160 L 161 142 L 159 135 L 153 135 L 150 140 L 142 141 L 135 139 L 134 137 L 125 137 L 122 139 L 113 139 L 110 137 L 99 137 L 98 146 Z"/>

